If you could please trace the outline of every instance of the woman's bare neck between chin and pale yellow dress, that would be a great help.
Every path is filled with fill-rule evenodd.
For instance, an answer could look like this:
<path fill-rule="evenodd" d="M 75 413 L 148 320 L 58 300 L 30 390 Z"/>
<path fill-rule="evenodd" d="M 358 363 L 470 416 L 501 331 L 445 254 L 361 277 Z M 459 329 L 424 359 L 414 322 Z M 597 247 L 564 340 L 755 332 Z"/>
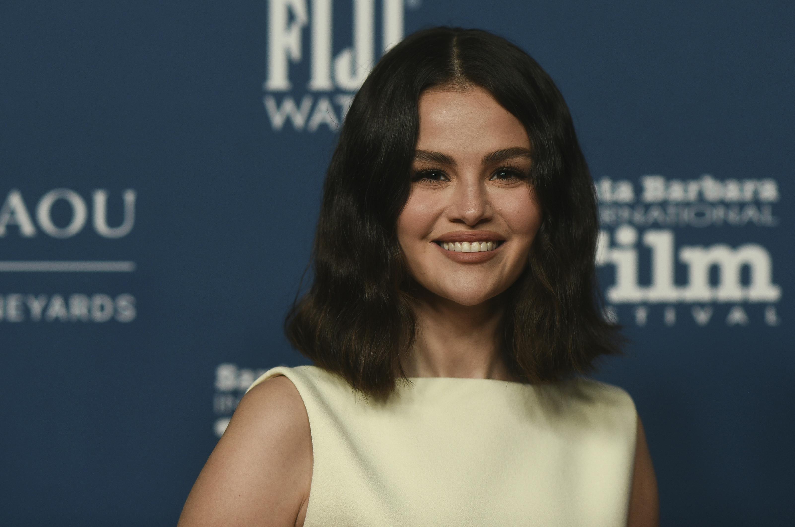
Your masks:
<path fill-rule="evenodd" d="M 417 338 L 402 361 L 406 376 L 513 380 L 497 345 L 497 298 L 462 306 L 424 291 L 415 313 Z"/>

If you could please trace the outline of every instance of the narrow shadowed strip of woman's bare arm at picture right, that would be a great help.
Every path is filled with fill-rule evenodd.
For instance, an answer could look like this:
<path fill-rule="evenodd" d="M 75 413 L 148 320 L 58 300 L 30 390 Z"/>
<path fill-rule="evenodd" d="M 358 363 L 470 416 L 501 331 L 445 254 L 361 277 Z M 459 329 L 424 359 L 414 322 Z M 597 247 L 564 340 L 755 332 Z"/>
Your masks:
<path fill-rule="evenodd" d="M 635 467 L 632 481 L 632 496 L 627 527 L 659 527 L 660 500 L 657 494 L 657 478 L 651 462 L 646 433 L 638 416 L 638 442 L 635 448 Z"/>

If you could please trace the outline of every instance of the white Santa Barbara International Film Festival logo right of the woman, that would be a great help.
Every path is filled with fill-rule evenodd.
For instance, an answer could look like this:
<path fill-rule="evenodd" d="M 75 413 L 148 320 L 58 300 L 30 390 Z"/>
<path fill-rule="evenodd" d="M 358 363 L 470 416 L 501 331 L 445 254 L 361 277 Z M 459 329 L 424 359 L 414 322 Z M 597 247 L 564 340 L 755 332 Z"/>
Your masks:
<path fill-rule="evenodd" d="M 715 240 L 682 245 L 683 229 L 708 227 L 775 228 L 773 206 L 779 200 L 774 179 L 667 179 L 644 175 L 639 188 L 627 180 L 602 178 L 599 195 L 599 248 L 596 263 L 615 271 L 605 290 L 607 316 L 619 319 L 617 306 L 633 306 L 636 325 L 646 325 L 653 307 L 660 307 L 665 325 L 677 323 L 677 305 L 688 305 L 692 321 L 704 326 L 723 309 L 726 325 L 748 325 L 749 310 L 765 325 L 778 325 L 775 304 L 781 287 L 774 283 L 770 251 L 750 242 L 731 246 Z M 684 280 L 677 283 L 677 266 Z M 645 271 L 648 269 L 648 273 Z M 641 274 L 650 275 L 642 283 Z M 758 306 L 764 304 L 764 306 Z M 725 306 L 725 307 L 723 307 Z"/>

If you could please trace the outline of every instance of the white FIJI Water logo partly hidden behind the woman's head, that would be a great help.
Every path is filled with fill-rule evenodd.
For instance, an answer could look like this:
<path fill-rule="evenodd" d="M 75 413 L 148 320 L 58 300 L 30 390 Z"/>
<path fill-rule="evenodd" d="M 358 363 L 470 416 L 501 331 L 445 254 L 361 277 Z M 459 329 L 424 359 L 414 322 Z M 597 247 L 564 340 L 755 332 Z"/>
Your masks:
<path fill-rule="evenodd" d="M 409 2 L 409 6 L 418 5 L 416 0 Z M 271 127 L 281 131 L 289 120 L 299 132 L 316 132 L 322 125 L 339 129 L 353 94 L 380 58 L 375 55 L 375 0 L 353 0 L 353 45 L 336 54 L 332 0 L 312 0 L 311 9 L 307 0 L 270 0 L 268 7 L 268 67 L 262 102 Z M 402 40 L 403 12 L 404 0 L 382 0 L 382 52 Z M 304 29 L 308 47 L 304 47 Z M 301 95 L 303 90 L 291 82 L 290 65 L 304 63 L 307 55 L 304 89 L 309 93 Z"/>

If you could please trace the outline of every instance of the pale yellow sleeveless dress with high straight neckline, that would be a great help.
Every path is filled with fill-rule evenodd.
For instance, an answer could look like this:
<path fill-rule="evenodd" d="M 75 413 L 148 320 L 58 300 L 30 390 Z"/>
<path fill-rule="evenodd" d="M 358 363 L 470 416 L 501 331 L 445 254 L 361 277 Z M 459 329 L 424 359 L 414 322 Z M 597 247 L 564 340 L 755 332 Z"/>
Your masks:
<path fill-rule="evenodd" d="M 305 527 L 626 525 L 637 414 L 622 388 L 412 377 L 378 403 L 315 366 L 251 387 L 275 375 L 312 433 Z"/>

